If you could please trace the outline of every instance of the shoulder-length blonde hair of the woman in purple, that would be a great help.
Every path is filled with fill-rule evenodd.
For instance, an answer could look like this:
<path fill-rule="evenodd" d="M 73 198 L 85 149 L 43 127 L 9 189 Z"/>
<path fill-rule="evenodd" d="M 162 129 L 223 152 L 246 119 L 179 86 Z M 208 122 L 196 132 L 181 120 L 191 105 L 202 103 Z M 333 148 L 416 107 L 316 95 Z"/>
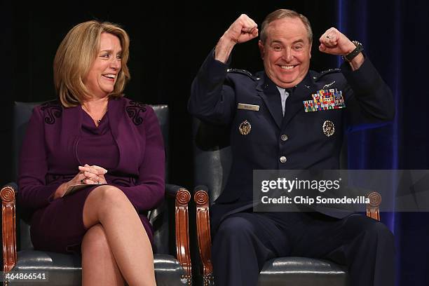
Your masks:
<path fill-rule="evenodd" d="M 109 33 L 121 41 L 121 70 L 109 97 L 122 97 L 125 84 L 130 80 L 127 67 L 130 38 L 119 25 L 110 22 L 88 21 L 74 26 L 64 37 L 53 63 L 55 90 L 64 107 L 75 107 L 88 99 L 90 92 L 83 84 L 97 53 L 100 35 Z"/>

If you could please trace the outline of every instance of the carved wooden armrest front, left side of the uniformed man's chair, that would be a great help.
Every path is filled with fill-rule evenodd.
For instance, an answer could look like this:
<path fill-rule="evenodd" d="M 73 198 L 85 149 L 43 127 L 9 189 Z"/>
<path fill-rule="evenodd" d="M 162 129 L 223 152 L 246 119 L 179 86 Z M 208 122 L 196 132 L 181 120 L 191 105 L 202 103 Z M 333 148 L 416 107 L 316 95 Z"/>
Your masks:
<path fill-rule="evenodd" d="M 196 189 L 193 199 L 196 203 L 198 250 L 200 252 L 201 263 L 203 264 L 203 280 L 204 285 L 209 285 L 210 280 L 213 279 L 212 239 L 210 237 L 209 196 L 205 189 Z"/>

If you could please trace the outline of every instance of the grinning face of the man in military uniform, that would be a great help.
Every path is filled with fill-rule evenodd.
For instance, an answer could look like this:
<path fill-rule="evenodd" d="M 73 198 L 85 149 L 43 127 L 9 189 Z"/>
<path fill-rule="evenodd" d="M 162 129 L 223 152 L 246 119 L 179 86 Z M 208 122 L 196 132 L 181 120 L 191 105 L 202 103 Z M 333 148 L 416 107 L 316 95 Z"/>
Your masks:
<path fill-rule="evenodd" d="M 268 77 L 281 88 L 297 86 L 310 67 L 311 42 L 299 18 L 282 18 L 271 22 L 266 41 L 259 41 Z"/>

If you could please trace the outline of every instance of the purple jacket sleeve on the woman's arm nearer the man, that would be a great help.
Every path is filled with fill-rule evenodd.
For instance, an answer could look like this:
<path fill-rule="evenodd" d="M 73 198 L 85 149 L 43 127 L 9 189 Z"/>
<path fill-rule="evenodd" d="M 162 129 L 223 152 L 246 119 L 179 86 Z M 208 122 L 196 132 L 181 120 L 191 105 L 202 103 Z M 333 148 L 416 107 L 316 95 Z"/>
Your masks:
<path fill-rule="evenodd" d="M 165 194 L 165 151 L 158 118 L 151 107 L 144 119 L 146 147 L 136 186 L 118 186 L 139 212 L 153 210 Z"/>

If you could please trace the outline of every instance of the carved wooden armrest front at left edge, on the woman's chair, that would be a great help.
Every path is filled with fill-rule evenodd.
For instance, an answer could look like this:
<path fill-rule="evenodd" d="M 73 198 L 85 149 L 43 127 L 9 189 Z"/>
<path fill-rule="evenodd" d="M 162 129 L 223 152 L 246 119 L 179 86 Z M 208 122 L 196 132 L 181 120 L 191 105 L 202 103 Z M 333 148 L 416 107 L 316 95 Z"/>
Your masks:
<path fill-rule="evenodd" d="M 3 237 L 3 271 L 11 271 L 16 257 L 15 191 L 17 187 L 4 186 L 1 197 L 1 231 Z"/>

